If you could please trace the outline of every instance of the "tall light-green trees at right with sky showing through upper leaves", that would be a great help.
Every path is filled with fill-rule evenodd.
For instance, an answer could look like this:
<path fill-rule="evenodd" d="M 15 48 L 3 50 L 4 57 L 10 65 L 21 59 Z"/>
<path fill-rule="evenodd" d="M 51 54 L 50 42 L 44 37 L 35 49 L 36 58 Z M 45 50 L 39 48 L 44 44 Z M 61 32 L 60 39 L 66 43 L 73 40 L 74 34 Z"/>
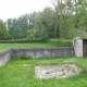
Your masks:
<path fill-rule="evenodd" d="M 86 29 L 87 26 L 87 1 L 51 0 L 51 2 L 54 5 L 57 15 L 55 26 L 59 28 L 60 38 L 82 36 L 80 33 L 84 33 L 82 28 Z"/>

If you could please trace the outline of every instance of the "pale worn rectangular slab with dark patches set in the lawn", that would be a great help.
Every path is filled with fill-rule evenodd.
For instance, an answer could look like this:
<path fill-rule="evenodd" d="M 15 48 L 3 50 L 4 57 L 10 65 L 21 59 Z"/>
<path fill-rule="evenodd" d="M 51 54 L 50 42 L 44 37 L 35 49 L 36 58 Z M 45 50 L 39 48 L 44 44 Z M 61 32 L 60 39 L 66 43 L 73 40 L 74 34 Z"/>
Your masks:
<path fill-rule="evenodd" d="M 61 65 L 40 65 L 35 66 L 35 74 L 37 78 L 62 78 L 80 71 L 75 64 L 61 64 Z"/>

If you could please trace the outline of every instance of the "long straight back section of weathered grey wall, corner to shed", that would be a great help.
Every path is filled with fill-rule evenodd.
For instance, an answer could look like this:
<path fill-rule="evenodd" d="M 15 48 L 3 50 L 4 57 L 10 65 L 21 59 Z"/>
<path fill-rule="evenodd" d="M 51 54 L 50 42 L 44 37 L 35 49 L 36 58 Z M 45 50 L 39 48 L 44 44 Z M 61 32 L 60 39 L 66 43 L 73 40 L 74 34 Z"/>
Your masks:
<path fill-rule="evenodd" d="M 73 47 L 12 49 L 12 54 L 15 57 L 32 57 L 32 58 L 64 57 L 73 55 Z"/>

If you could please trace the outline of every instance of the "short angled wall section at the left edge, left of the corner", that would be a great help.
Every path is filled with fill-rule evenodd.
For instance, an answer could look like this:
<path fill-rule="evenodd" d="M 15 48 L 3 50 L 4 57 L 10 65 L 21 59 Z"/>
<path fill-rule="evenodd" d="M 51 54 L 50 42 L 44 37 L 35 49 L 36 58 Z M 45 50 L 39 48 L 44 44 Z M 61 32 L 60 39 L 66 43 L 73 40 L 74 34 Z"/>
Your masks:
<path fill-rule="evenodd" d="M 0 51 L 0 66 L 11 59 L 11 49 Z"/>

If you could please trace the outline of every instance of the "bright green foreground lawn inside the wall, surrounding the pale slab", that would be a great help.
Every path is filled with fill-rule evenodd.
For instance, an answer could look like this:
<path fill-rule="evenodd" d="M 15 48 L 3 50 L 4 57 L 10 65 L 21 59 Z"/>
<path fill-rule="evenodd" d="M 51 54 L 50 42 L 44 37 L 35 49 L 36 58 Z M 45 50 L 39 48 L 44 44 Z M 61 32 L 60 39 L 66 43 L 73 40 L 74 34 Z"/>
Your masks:
<path fill-rule="evenodd" d="M 62 63 L 74 63 L 82 69 L 82 72 L 67 78 L 37 79 L 35 77 L 35 65 Z M 13 58 L 0 67 L 0 87 L 87 87 L 87 59 L 64 57 L 25 60 Z"/>

